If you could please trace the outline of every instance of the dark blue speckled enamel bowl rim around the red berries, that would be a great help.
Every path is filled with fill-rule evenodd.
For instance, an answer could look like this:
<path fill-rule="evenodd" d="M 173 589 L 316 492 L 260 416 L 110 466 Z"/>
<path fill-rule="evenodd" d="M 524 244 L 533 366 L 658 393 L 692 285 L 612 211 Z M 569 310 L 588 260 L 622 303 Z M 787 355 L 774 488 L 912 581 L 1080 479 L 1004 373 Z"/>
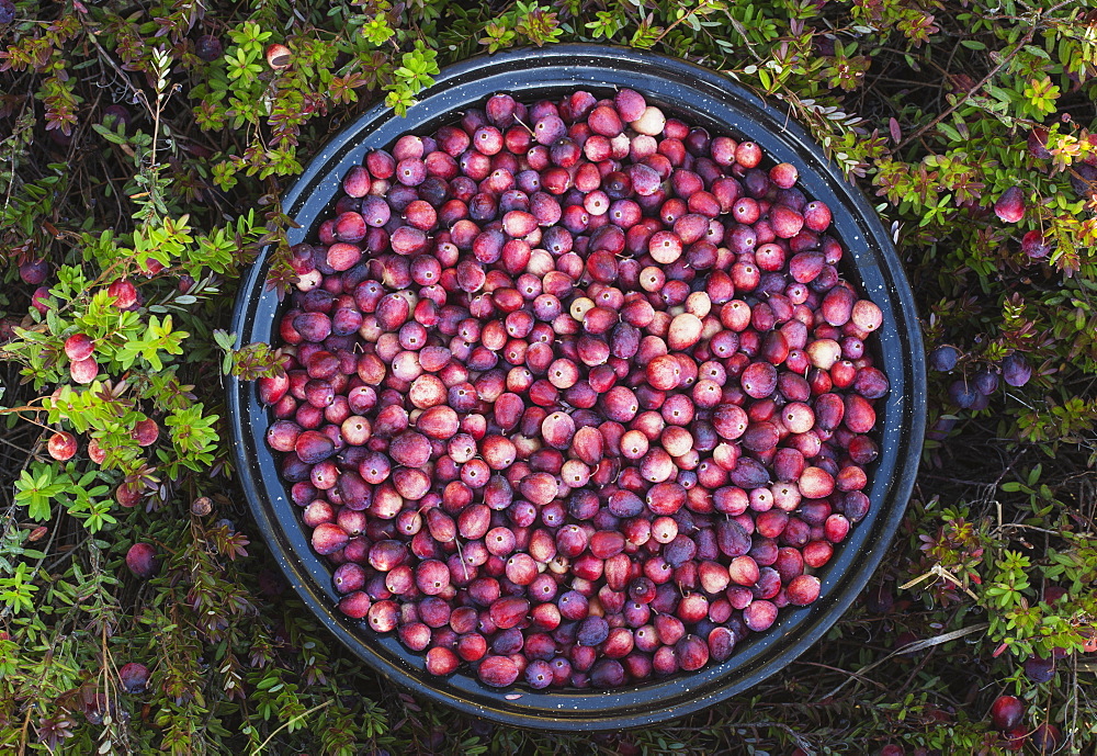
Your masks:
<path fill-rule="evenodd" d="M 613 690 L 494 689 L 468 670 L 438 678 L 423 669 L 421 654 L 406 650 L 395 633 L 378 635 L 336 608 L 332 567 L 313 552 L 309 531 L 280 481 L 263 439 L 270 411 L 251 382 L 229 379 L 228 410 L 236 467 L 256 524 L 290 585 L 307 609 L 347 648 L 398 686 L 467 714 L 499 723 L 559 731 L 620 730 L 651 725 L 698 711 L 743 692 L 785 667 L 823 637 L 864 588 L 883 560 L 914 485 L 926 415 L 926 372 L 914 296 L 892 240 L 872 206 L 793 122 L 726 77 L 674 58 L 621 47 L 553 45 L 476 57 L 444 69 L 420 93 L 405 117 L 377 105 L 347 126 L 309 162 L 283 196 L 298 228 L 290 244 L 315 239 L 330 217 L 341 179 L 370 149 L 388 148 L 403 134 L 428 134 L 456 121 L 464 109 L 482 106 L 496 92 L 525 102 L 558 98 L 578 89 L 596 97 L 618 88 L 642 92 L 692 125 L 758 143 L 767 157 L 800 168 L 800 187 L 826 202 L 847 253 L 841 271 L 883 311 L 871 345 L 877 364 L 891 381 L 878 405 L 880 458 L 870 469 L 871 511 L 855 526 L 834 558 L 816 575 L 817 601 L 787 607 L 764 633 L 736 646 L 723 664 L 667 679 Z M 271 342 L 283 309 L 264 281 L 272 250 L 262 250 L 244 280 L 233 317 L 238 345 Z"/>

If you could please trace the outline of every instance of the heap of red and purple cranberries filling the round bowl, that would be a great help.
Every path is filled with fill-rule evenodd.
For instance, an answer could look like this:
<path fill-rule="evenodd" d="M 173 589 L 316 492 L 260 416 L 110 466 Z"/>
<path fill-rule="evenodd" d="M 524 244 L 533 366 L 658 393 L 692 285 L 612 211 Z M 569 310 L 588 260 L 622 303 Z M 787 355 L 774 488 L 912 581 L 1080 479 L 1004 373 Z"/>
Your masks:
<path fill-rule="evenodd" d="M 621 90 L 498 94 L 351 169 L 258 385 L 344 614 L 433 674 L 612 688 L 818 597 L 883 315 L 764 159 Z"/>

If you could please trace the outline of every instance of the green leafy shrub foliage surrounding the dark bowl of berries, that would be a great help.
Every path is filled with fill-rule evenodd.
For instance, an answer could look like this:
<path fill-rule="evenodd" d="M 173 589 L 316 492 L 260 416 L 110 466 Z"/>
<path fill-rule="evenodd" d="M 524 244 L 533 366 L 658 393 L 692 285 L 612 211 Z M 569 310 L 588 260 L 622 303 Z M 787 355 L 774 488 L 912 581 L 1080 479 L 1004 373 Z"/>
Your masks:
<path fill-rule="evenodd" d="M 284 247 L 279 196 L 318 145 L 378 100 L 407 108 L 446 63 L 568 41 L 689 58 L 787 110 L 879 203 L 927 345 L 963 354 L 931 376 L 894 553 L 827 640 L 703 714 L 606 736 L 470 721 L 348 658 L 255 538 L 217 379 L 270 370 L 219 329 L 256 251 Z M 272 43 L 287 68 L 268 65 Z M 1095 77 L 1094 0 L 15 2 L 0 25 L 0 753 L 966 755 L 1006 747 L 987 722 L 1003 692 L 1027 730 L 1061 730 L 1060 753 L 1094 753 Z M 1036 128 L 1045 150 L 1028 148 Z M 1014 185 L 1028 210 L 1005 224 L 992 206 Z M 1021 252 L 1033 229 L 1049 257 Z M 47 316 L 16 270 L 41 258 Z M 112 304 L 120 278 L 136 312 Z M 97 339 L 91 386 L 63 352 L 78 331 Z M 1027 386 L 950 403 L 949 383 L 1010 354 L 1034 368 Z M 146 448 L 131 431 L 148 418 Z M 45 454 L 53 429 L 80 435 L 69 462 Z M 200 496 L 212 514 L 192 514 Z M 149 582 L 124 565 L 138 540 L 161 555 Z M 1054 648 L 1054 678 L 1028 679 L 1021 663 Z M 120 687 L 131 661 L 148 692 Z"/>

